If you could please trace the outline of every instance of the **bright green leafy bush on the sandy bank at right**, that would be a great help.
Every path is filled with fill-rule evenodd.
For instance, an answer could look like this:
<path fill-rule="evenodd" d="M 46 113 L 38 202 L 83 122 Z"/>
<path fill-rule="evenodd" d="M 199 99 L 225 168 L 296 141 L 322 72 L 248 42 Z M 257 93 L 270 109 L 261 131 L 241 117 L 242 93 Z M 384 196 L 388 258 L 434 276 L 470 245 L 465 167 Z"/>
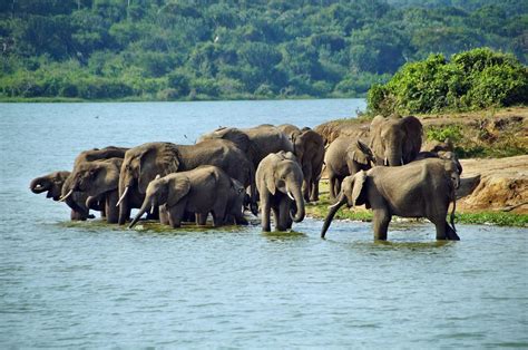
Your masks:
<path fill-rule="evenodd" d="M 528 69 L 488 48 L 431 55 L 405 64 L 385 85 L 369 90 L 373 114 L 468 110 L 528 104 Z"/>

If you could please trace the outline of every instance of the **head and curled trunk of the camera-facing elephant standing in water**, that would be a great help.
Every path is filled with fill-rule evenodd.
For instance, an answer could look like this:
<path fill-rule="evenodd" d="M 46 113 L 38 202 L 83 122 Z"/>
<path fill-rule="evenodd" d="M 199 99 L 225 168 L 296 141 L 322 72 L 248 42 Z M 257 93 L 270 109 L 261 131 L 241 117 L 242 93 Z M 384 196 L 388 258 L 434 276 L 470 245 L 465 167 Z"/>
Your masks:
<path fill-rule="evenodd" d="M 275 157 L 271 169 L 264 173 L 266 188 L 272 195 L 278 191 L 295 202 L 296 213 L 292 215 L 292 220 L 299 223 L 303 221 L 305 214 L 302 194 L 303 172 L 293 153 L 280 152 Z"/>

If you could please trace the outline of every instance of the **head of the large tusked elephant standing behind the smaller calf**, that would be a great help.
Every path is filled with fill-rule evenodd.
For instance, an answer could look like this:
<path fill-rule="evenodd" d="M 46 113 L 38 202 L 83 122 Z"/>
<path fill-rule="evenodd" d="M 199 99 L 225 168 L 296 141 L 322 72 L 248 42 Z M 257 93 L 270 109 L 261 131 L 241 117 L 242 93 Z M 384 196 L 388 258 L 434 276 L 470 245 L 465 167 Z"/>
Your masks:
<path fill-rule="evenodd" d="M 133 186 L 146 193 L 147 186 L 156 175 L 176 173 L 179 167 L 179 152 L 170 143 L 148 143 L 130 148 L 119 174 L 119 202 L 125 201 L 128 189 Z"/>

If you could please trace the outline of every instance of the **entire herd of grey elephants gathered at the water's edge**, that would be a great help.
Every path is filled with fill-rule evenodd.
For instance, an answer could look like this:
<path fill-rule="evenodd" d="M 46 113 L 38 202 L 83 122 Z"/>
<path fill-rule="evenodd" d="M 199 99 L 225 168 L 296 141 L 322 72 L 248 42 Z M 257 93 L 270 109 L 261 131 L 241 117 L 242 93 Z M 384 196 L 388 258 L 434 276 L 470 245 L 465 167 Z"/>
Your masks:
<path fill-rule="evenodd" d="M 325 147 L 322 135 L 293 125 L 221 127 L 194 145 L 154 142 L 133 148 L 108 146 L 80 153 L 71 172 L 31 181 L 71 208 L 71 220 L 94 218 L 133 227 L 149 220 L 179 227 L 183 222 L 214 226 L 246 225 L 244 210 L 261 212 L 262 230 L 285 231 L 305 216 L 305 203 L 319 201 L 325 171 L 334 204 L 324 221 L 324 237 L 338 210 L 365 205 L 373 211 L 374 239 L 387 240 L 392 215 L 427 217 L 438 240 L 458 240 L 453 225 L 454 189 L 461 166 L 452 149 L 420 152 L 422 125 L 415 117 L 375 117 L 370 137 L 340 136 Z M 446 216 L 453 203 L 451 225 Z M 130 217 L 131 210 L 138 213 Z"/>

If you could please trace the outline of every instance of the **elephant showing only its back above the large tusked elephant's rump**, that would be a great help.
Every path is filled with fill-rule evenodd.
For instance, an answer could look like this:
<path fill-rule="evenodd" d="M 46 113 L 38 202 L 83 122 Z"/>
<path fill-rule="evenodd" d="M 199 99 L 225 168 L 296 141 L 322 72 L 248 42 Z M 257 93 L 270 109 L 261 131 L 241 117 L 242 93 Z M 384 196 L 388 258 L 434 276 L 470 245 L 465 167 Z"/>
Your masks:
<path fill-rule="evenodd" d="M 228 139 L 242 149 L 254 167 L 271 153 L 280 150 L 293 152 L 293 144 L 289 137 L 277 127 L 264 124 L 252 128 L 238 129 L 235 127 L 222 127 L 212 133 L 204 134 L 198 143 L 206 139 Z"/>

